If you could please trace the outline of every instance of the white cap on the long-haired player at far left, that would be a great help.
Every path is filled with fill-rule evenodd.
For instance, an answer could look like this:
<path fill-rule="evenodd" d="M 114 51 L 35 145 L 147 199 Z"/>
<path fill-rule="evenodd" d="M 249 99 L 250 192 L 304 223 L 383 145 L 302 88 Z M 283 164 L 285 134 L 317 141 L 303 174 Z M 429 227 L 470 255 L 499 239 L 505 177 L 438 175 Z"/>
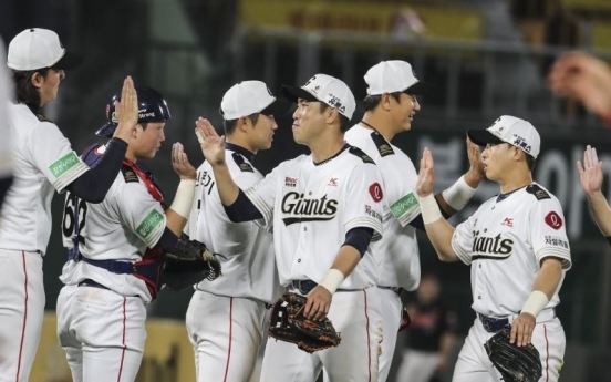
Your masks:
<path fill-rule="evenodd" d="M 52 66 L 74 69 L 83 61 L 79 54 L 63 48 L 58 33 L 42 28 L 30 28 L 15 35 L 8 53 L 7 65 L 18 71 Z"/>

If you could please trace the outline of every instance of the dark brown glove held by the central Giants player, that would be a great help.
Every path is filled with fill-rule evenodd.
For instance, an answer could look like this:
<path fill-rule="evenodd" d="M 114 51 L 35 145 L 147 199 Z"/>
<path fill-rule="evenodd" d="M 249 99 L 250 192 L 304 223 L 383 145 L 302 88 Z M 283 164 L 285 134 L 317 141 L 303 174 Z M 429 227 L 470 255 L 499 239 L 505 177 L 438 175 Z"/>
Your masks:
<path fill-rule="evenodd" d="M 340 344 L 342 338 L 331 321 L 313 321 L 303 316 L 307 298 L 297 293 L 284 293 L 271 307 L 268 333 L 277 340 L 296 343 L 308 353 Z"/>

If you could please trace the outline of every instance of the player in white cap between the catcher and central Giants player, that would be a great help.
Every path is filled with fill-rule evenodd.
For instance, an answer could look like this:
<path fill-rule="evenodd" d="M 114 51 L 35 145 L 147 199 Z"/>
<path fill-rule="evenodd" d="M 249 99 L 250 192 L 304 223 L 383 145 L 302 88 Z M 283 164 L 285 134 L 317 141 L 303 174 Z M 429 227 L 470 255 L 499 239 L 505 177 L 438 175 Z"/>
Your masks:
<path fill-rule="evenodd" d="M 261 81 L 231 86 L 220 104 L 225 156 L 231 178 L 247 189 L 262 179 L 252 162 L 271 147 L 280 107 Z M 262 338 L 266 303 L 280 297 L 271 233 L 252 221 L 232 223 L 220 202 L 209 162 L 197 169 L 190 238 L 222 254 L 222 277 L 199 282 L 187 310 L 197 381 L 248 381 Z"/>

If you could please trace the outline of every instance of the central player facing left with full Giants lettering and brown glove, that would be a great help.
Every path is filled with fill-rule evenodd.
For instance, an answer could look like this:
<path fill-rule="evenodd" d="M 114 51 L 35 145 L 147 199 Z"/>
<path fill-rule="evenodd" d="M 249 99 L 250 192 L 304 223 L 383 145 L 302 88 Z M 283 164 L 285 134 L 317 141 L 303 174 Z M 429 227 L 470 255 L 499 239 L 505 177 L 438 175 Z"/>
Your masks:
<path fill-rule="evenodd" d="M 231 179 L 224 140 L 207 120 L 197 123 L 229 217 L 273 226 L 280 283 L 308 297 L 307 317 L 328 314 L 342 334 L 339 347 L 312 354 L 268 339 L 261 381 L 313 382 L 322 368 L 331 381 L 377 381 L 382 318 L 370 242 L 382 235 L 380 173 L 344 142 L 355 101 L 342 81 L 317 74 L 282 92 L 297 103 L 293 138 L 311 154 L 281 163 L 246 190 Z"/>

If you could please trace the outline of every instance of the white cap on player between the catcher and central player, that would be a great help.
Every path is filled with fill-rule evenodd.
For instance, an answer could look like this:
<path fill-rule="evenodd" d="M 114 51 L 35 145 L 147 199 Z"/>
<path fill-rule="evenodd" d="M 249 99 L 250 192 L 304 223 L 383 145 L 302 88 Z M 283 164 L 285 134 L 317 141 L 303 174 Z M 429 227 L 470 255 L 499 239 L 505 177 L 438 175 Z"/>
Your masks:
<path fill-rule="evenodd" d="M 231 86 L 220 102 L 220 114 L 226 121 L 250 114 L 280 114 L 286 110 L 277 102 L 271 91 L 261 81 L 242 81 Z"/>

